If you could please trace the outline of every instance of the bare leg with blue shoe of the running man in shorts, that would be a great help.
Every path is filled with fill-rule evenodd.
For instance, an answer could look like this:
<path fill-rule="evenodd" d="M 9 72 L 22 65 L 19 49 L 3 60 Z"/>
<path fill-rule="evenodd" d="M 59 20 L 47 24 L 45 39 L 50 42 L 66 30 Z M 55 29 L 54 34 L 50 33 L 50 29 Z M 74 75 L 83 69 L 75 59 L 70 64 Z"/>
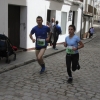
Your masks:
<path fill-rule="evenodd" d="M 42 48 L 40 50 L 36 50 L 36 57 L 39 65 L 41 66 L 41 71 L 40 73 L 42 74 L 45 71 L 45 63 L 43 61 L 43 55 L 45 53 L 46 48 Z"/>

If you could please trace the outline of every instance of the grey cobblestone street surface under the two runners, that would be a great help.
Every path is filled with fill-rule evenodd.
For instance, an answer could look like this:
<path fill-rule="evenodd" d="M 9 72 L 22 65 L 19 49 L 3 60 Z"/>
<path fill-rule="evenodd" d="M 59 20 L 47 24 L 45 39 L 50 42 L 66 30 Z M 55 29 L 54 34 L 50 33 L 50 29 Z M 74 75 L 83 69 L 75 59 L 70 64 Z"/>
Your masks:
<path fill-rule="evenodd" d="M 81 69 L 66 82 L 65 52 L 45 58 L 46 72 L 37 62 L 0 74 L 0 100 L 100 100 L 100 34 L 80 52 Z"/>

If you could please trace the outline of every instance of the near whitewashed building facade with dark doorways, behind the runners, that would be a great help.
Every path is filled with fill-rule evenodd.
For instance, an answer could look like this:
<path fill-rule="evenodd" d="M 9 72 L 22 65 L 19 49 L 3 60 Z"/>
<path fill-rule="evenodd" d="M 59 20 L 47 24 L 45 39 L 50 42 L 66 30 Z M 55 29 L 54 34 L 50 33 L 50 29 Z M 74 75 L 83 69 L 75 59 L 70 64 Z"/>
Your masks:
<path fill-rule="evenodd" d="M 82 0 L 81 0 L 82 1 Z M 55 18 L 62 27 L 58 43 L 64 42 L 68 26 L 76 26 L 76 34 L 81 33 L 80 0 L 0 0 L 0 34 L 5 34 L 20 48 L 34 48 L 29 33 L 37 23 L 36 17 L 43 17 L 43 24 Z"/>

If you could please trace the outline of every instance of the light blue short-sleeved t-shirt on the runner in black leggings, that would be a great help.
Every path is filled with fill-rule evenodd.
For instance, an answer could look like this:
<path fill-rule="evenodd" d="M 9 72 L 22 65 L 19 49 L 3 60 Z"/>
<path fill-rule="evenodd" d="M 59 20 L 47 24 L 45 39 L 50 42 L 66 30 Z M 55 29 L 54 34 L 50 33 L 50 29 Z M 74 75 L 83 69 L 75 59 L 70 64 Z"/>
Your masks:
<path fill-rule="evenodd" d="M 80 42 L 80 38 L 77 35 L 74 35 L 72 38 L 67 36 L 65 38 L 65 42 L 67 46 L 73 46 L 73 47 L 78 47 L 78 43 Z M 78 50 L 75 51 L 75 53 L 78 53 Z"/>

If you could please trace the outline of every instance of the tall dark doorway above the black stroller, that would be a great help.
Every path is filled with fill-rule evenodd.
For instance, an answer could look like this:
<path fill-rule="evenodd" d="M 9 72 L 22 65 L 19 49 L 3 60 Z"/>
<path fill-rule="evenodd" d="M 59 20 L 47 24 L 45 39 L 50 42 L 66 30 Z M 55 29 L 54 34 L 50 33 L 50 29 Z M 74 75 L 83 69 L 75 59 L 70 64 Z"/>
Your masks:
<path fill-rule="evenodd" d="M 20 6 L 8 5 L 8 38 L 11 43 L 20 46 Z"/>

